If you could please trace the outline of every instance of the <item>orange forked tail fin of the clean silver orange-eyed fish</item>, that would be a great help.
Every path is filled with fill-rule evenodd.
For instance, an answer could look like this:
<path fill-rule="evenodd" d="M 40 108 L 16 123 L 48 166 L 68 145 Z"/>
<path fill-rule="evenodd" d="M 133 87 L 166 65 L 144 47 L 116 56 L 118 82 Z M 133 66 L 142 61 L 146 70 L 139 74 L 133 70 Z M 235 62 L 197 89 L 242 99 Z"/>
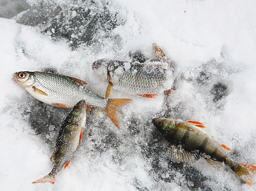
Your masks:
<path fill-rule="evenodd" d="M 119 121 L 115 109 L 128 104 L 130 101 L 132 101 L 132 99 L 108 99 L 108 105 L 103 109 L 117 128 L 119 128 Z"/>

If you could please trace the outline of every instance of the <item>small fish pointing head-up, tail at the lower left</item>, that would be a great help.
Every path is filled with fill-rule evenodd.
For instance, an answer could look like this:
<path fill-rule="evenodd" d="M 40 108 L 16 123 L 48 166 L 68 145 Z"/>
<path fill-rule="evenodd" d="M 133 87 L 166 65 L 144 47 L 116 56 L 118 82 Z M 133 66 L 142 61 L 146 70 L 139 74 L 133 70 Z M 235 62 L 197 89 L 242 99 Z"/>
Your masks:
<path fill-rule="evenodd" d="M 81 100 L 75 105 L 60 127 L 54 152 L 51 156 L 52 171 L 45 177 L 32 183 L 55 183 L 56 175 L 67 167 L 80 145 L 82 133 L 86 123 L 86 103 Z"/>

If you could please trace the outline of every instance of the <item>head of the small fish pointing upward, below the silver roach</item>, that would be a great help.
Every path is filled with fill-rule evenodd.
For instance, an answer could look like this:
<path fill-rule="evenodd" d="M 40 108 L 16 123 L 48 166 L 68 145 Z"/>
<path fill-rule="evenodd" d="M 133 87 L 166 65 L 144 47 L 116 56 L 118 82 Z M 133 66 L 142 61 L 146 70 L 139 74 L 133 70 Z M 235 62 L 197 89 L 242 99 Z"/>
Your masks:
<path fill-rule="evenodd" d="M 71 123 L 77 123 L 86 117 L 86 102 L 85 100 L 79 101 L 72 109 Z"/>

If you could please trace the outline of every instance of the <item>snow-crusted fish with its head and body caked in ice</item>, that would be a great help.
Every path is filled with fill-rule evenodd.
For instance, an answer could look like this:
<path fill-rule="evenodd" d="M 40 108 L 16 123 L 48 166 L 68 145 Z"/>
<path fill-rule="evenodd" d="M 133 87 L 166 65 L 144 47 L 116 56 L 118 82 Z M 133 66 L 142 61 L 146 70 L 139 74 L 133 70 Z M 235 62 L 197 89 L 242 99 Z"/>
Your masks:
<path fill-rule="evenodd" d="M 170 93 L 175 79 L 175 68 L 167 62 L 165 54 L 153 43 L 154 61 L 123 62 L 101 59 L 92 64 L 92 69 L 107 83 L 105 98 L 116 89 L 124 93 L 155 98 L 166 91 Z"/>

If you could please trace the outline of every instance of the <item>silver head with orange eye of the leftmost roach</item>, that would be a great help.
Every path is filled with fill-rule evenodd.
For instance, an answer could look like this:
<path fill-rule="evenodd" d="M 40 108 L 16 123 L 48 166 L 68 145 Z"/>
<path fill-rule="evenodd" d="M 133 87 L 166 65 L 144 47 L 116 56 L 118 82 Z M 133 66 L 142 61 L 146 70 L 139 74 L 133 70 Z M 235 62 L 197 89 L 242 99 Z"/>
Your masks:
<path fill-rule="evenodd" d="M 36 82 L 33 72 L 29 71 L 16 72 L 12 75 L 11 79 L 17 82 L 24 89 L 26 87 L 32 86 Z"/>

